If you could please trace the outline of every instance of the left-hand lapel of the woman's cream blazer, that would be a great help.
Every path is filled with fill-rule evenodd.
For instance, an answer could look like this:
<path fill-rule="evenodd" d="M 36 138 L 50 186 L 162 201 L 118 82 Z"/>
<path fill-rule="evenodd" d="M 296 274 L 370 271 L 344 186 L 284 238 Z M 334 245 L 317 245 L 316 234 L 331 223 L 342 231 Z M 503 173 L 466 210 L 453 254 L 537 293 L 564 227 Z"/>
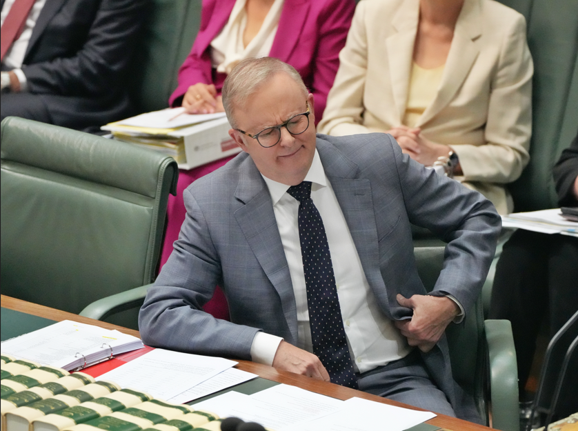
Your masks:
<path fill-rule="evenodd" d="M 406 112 L 413 45 L 419 19 L 418 0 L 403 1 L 392 19 L 395 33 L 386 39 L 391 88 L 401 124 Z"/>

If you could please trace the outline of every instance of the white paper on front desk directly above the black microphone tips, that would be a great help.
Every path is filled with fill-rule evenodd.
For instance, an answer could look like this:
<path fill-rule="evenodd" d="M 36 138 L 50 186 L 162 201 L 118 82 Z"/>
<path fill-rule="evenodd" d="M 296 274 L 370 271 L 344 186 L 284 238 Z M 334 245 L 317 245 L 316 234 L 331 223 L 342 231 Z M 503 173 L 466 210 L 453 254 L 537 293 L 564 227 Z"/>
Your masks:
<path fill-rule="evenodd" d="M 219 395 L 194 405 L 195 409 L 215 412 L 221 417 L 239 417 L 243 421 L 255 421 L 273 430 L 281 431 L 312 419 L 337 412 L 343 401 L 309 392 L 290 385 L 276 385 L 250 396 Z"/>

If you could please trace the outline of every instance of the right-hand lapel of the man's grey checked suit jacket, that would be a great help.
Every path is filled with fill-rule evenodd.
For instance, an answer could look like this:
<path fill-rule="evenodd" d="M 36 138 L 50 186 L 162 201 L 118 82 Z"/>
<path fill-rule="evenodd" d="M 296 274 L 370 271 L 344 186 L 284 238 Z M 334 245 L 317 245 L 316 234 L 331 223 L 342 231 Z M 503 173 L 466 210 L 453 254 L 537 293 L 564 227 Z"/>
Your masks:
<path fill-rule="evenodd" d="M 366 279 L 381 309 L 391 319 L 386 285 L 379 268 L 375 208 L 368 179 L 359 178 L 359 167 L 335 147 L 317 139 L 323 170 L 346 219 Z"/>

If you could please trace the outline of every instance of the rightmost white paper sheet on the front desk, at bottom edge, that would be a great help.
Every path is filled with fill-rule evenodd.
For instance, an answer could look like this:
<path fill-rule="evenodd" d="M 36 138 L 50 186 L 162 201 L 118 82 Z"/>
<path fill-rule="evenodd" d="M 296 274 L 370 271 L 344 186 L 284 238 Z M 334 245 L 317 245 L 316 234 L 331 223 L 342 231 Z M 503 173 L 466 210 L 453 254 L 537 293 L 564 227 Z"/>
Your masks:
<path fill-rule="evenodd" d="M 283 428 L 283 431 L 403 431 L 436 414 L 418 412 L 407 408 L 376 403 L 361 398 L 351 398 L 343 401 L 339 412 L 328 414 L 319 419 L 301 423 L 299 427 Z"/>

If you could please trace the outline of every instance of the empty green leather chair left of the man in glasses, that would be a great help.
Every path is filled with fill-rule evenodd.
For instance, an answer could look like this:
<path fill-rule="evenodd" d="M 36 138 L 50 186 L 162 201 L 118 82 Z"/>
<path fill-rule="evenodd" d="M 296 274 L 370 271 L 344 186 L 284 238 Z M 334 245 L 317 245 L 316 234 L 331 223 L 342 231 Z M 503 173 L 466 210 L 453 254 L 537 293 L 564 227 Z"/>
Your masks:
<path fill-rule="evenodd" d="M 174 159 L 16 117 L 0 133 L 2 294 L 81 313 L 153 281 Z M 136 329 L 141 303 L 82 314 Z"/>

